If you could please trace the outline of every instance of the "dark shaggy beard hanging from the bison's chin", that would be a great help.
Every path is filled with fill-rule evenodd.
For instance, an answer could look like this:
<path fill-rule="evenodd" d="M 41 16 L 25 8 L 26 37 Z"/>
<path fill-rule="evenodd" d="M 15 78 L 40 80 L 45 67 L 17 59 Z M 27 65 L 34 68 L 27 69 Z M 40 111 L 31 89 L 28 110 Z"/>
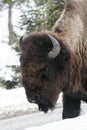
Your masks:
<path fill-rule="evenodd" d="M 39 110 L 45 113 L 48 112 L 49 109 L 53 109 L 54 105 L 48 101 L 45 97 L 40 97 L 40 100 L 37 102 Z"/>

